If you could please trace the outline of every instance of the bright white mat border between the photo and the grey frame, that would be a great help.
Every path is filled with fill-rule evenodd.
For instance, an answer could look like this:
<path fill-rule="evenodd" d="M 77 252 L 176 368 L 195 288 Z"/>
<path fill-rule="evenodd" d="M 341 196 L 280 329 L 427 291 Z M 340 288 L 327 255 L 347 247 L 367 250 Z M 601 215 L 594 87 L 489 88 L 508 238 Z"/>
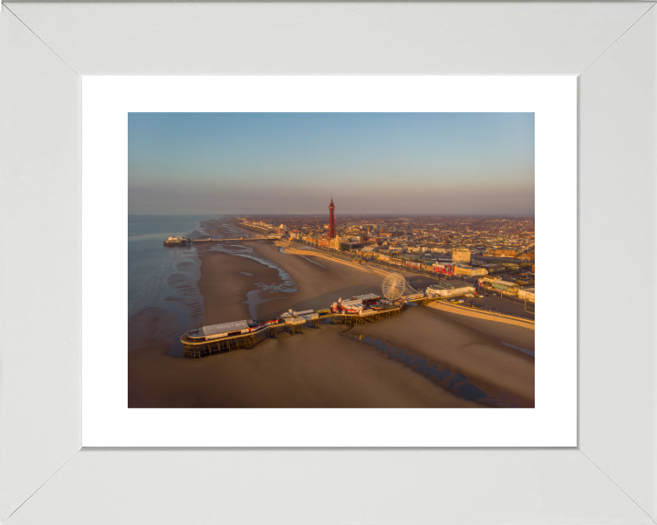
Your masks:
<path fill-rule="evenodd" d="M 576 273 L 541 278 L 546 291 L 533 347 L 539 359 L 532 409 L 134 410 L 128 406 L 128 353 L 115 351 L 128 336 L 128 243 L 107 248 L 107 239 L 120 239 L 128 228 L 129 111 L 528 112 L 534 118 L 538 258 L 558 267 L 560 252 L 577 252 L 577 231 L 568 229 L 577 221 L 577 77 L 94 76 L 83 79 L 82 89 L 82 304 L 95 313 L 82 326 L 82 447 L 577 446 Z M 553 218 L 555 201 L 560 216 Z M 102 293 L 98 283 L 104 283 Z M 572 290 L 568 303 L 560 288 Z M 541 328 L 554 324 L 559 331 Z"/>

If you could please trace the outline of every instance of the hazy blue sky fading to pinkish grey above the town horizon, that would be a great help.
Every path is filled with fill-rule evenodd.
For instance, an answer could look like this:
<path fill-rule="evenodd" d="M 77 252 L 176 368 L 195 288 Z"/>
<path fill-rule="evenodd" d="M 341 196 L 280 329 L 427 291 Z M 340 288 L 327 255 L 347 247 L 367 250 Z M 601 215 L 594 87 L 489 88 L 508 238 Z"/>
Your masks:
<path fill-rule="evenodd" d="M 533 113 L 130 113 L 130 213 L 534 214 Z"/>

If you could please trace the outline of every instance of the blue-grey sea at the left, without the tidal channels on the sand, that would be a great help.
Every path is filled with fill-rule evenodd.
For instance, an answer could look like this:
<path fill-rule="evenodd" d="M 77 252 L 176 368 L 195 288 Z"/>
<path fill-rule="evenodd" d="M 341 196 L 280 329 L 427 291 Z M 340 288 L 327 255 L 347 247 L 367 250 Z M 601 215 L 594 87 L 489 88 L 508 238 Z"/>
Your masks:
<path fill-rule="evenodd" d="M 196 288 L 201 265 L 196 249 L 166 248 L 162 242 L 170 235 L 207 236 L 199 231 L 199 221 L 219 217 L 128 216 L 129 317 L 147 308 L 161 308 L 175 316 L 176 334 L 203 322 L 203 297 Z"/>

